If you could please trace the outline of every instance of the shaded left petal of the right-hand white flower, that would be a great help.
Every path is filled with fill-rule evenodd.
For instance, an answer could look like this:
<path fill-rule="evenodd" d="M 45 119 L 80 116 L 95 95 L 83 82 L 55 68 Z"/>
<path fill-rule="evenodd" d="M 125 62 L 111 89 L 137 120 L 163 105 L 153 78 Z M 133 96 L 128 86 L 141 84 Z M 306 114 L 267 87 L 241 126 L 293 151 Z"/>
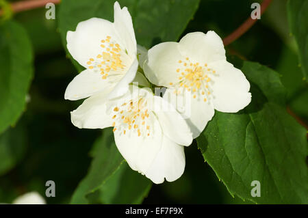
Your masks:
<path fill-rule="evenodd" d="M 181 67 L 179 60 L 183 57 L 178 47 L 177 42 L 163 42 L 149 50 L 144 74 L 151 83 L 170 87 L 170 83 L 179 81 L 177 68 Z"/>

